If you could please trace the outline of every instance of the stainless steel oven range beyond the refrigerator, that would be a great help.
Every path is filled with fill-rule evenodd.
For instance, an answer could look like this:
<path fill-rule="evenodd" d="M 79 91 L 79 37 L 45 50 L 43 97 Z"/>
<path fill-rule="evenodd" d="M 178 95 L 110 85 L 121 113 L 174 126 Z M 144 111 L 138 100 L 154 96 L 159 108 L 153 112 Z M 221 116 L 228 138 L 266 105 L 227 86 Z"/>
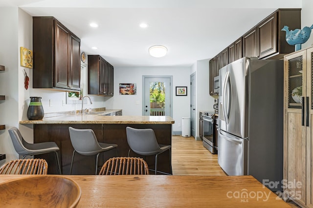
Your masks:
<path fill-rule="evenodd" d="M 200 137 L 203 146 L 212 154 L 216 154 L 218 151 L 217 116 L 214 112 L 200 113 Z"/>

